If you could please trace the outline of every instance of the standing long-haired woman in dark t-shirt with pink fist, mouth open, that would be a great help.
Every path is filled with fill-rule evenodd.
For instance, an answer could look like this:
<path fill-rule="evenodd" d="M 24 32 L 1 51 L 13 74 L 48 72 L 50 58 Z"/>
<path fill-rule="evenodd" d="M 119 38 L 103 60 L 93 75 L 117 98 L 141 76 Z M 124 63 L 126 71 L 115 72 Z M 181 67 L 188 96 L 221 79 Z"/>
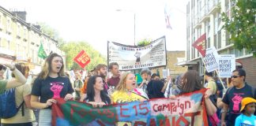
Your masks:
<path fill-rule="evenodd" d="M 62 57 L 50 54 L 32 86 L 31 106 L 40 109 L 39 125 L 51 125 L 51 105 L 55 98 L 73 98 L 70 79 L 65 75 Z M 40 98 L 40 100 L 39 100 Z"/>

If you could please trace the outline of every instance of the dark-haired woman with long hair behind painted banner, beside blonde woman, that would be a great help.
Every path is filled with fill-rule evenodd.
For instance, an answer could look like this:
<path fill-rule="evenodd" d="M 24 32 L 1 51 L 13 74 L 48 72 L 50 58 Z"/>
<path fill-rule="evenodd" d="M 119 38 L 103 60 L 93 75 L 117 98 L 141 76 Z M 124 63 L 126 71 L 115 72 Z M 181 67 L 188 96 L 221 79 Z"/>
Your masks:
<path fill-rule="evenodd" d="M 85 102 L 92 104 L 93 107 L 102 107 L 111 103 L 111 99 L 104 93 L 104 83 L 100 76 L 91 76 L 88 79 Z"/>

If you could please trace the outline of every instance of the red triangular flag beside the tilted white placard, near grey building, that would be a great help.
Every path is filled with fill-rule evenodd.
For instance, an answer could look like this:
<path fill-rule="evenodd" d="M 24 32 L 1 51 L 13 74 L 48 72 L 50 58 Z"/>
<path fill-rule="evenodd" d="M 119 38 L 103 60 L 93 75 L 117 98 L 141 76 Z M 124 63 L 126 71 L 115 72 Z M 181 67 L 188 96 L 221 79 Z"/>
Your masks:
<path fill-rule="evenodd" d="M 201 54 L 202 57 L 205 57 L 205 43 L 206 43 L 206 33 L 204 35 L 201 35 L 200 38 L 198 38 L 192 46 L 194 46 L 199 53 Z"/>

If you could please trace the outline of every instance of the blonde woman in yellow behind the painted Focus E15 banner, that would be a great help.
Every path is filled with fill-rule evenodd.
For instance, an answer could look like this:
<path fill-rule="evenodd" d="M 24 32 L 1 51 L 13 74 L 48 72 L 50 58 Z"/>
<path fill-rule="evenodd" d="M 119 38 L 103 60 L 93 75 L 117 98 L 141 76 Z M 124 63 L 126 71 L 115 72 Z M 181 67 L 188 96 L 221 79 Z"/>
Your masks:
<path fill-rule="evenodd" d="M 148 95 L 141 89 L 136 88 L 136 77 L 132 72 L 123 72 L 115 92 L 111 95 L 113 103 L 145 101 Z"/>

